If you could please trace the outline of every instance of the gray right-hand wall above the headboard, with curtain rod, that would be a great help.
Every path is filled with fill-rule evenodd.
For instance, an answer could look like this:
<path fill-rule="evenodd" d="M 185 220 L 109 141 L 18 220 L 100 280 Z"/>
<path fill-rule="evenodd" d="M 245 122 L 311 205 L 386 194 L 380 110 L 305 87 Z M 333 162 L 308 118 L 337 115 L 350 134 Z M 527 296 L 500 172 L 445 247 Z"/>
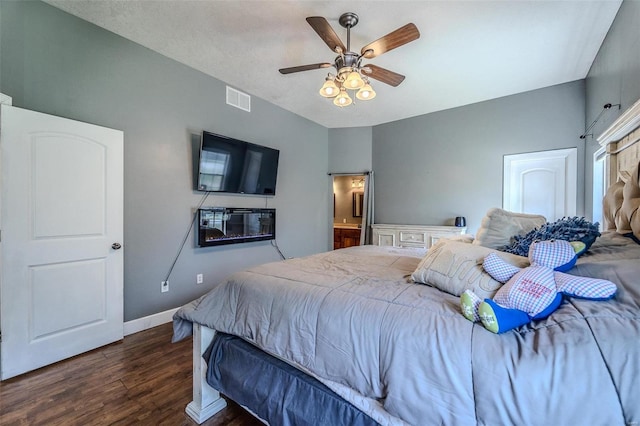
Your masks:
<path fill-rule="evenodd" d="M 585 205 L 587 215 L 593 206 L 593 154 L 600 147 L 598 136 L 627 108 L 640 99 L 640 1 L 625 0 L 609 29 L 586 78 L 586 126 L 606 103 L 621 104 L 598 120 L 586 139 Z M 596 200 L 599 204 L 600 200 Z"/>

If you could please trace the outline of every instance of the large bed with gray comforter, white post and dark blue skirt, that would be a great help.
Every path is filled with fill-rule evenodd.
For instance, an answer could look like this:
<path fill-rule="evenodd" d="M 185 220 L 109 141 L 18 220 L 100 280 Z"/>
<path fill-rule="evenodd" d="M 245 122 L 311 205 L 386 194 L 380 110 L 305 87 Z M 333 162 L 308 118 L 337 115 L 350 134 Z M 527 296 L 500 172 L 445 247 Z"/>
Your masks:
<path fill-rule="evenodd" d="M 360 246 L 260 265 L 174 317 L 174 340 L 194 335 L 188 414 L 201 423 L 225 406 L 219 390 L 261 389 L 238 402 L 282 425 L 640 424 L 640 198 L 618 183 L 637 184 L 639 125 L 640 102 L 599 140 L 607 230 L 570 271 L 616 283 L 612 300 L 572 298 L 496 335 L 462 316 L 446 280 L 414 282 L 437 250 Z M 266 370 L 300 387 L 276 376 L 259 385 Z M 291 415 L 263 403 L 291 395 Z"/>

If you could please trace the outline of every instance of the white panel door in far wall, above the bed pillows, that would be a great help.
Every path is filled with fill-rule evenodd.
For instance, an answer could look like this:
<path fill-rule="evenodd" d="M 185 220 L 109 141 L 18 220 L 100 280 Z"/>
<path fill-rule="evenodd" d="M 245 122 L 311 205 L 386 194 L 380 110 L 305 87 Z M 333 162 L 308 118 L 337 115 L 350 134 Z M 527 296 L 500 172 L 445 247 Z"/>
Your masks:
<path fill-rule="evenodd" d="M 577 161 L 576 148 L 505 155 L 503 208 L 550 222 L 575 216 Z"/>

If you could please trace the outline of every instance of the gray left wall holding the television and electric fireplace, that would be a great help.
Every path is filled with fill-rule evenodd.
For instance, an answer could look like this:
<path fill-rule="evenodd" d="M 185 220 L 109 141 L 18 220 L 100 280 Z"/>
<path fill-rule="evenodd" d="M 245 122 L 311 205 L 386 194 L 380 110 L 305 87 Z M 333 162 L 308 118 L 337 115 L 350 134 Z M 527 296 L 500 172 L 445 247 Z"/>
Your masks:
<path fill-rule="evenodd" d="M 273 198 L 211 195 L 206 206 L 274 207 L 286 256 L 326 250 L 328 130 L 256 97 L 225 104 L 225 84 L 40 2 L 0 3 L 0 91 L 13 104 L 124 131 L 125 321 L 180 306 L 231 272 L 278 260 L 268 242 L 195 248 L 191 235 L 160 293 L 202 197 L 192 135 L 209 130 L 280 149 Z M 196 136 L 197 138 L 197 136 Z M 204 285 L 195 284 L 203 273 Z"/>

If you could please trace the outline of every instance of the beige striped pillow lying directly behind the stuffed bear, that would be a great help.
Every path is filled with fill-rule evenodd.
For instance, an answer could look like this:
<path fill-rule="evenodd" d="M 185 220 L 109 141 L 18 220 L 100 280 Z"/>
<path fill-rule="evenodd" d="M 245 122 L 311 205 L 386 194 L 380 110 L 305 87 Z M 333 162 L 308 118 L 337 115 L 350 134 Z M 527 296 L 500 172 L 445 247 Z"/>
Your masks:
<path fill-rule="evenodd" d="M 460 240 L 440 240 L 427 251 L 411 278 L 454 296 L 472 290 L 482 299 L 491 298 L 502 283 L 491 278 L 482 268 L 482 262 L 489 253 L 497 253 L 519 268 L 529 266 L 526 257 Z"/>

